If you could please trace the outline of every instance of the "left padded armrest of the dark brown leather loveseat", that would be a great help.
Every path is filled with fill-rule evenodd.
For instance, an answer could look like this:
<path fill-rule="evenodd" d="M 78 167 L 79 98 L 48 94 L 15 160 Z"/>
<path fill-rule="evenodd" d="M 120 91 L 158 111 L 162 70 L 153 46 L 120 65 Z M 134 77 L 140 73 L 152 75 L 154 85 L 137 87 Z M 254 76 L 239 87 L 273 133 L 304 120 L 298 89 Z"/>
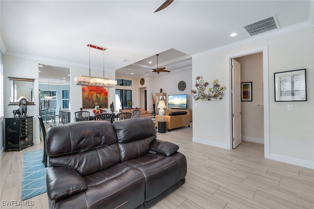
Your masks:
<path fill-rule="evenodd" d="M 85 180 L 73 168 L 56 166 L 47 169 L 47 194 L 57 200 L 87 189 Z"/>

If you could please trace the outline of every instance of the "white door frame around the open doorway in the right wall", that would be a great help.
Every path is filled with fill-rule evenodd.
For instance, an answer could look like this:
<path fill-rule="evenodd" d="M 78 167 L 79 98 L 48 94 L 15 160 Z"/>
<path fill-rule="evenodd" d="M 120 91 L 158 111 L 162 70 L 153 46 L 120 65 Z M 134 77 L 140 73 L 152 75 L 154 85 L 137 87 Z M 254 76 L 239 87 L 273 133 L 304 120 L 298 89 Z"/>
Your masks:
<path fill-rule="evenodd" d="M 269 141 L 269 73 L 268 73 L 268 46 L 248 49 L 242 52 L 235 52 L 226 55 L 226 83 L 231 87 L 231 59 L 245 56 L 253 53 L 263 53 L 263 111 L 264 111 L 264 157 L 269 158 L 270 141 Z M 231 89 L 226 91 L 226 144 L 231 150 L 232 148 L 232 95 Z"/>

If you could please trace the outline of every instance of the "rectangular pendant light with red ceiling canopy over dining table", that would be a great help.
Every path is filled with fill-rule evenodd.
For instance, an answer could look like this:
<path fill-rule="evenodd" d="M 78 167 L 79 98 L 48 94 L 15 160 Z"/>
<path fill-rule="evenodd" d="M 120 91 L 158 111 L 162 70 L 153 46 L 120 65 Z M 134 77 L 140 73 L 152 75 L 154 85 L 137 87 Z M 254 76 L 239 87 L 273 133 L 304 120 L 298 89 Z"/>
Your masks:
<path fill-rule="evenodd" d="M 89 77 L 87 76 L 79 76 L 74 78 L 74 82 L 77 83 L 77 85 L 86 85 L 86 86 L 103 86 L 103 87 L 115 87 L 117 85 L 116 80 L 109 80 L 105 78 L 105 50 L 104 47 L 99 47 L 93 44 L 88 44 L 87 47 L 89 47 Z M 90 76 L 90 48 L 94 48 L 97 50 L 103 51 L 103 78 L 95 78 Z"/>

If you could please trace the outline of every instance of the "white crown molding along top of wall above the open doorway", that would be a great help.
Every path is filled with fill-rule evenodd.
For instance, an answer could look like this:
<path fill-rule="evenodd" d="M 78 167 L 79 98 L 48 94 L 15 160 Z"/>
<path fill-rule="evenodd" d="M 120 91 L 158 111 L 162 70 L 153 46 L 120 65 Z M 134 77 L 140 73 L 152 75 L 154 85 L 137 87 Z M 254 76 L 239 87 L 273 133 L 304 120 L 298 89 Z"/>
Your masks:
<path fill-rule="evenodd" d="M 201 55 L 205 55 L 205 54 L 212 54 L 212 53 L 222 52 L 222 51 L 225 51 L 225 50 L 233 49 L 233 48 L 236 48 L 236 47 L 241 47 L 243 45 L 252 44 L 252 43 L 255 43 L 255 42 L 258 42 L 258 41 L 261 41 L 261 40 L 265 40 L 265 39 L 268 39 L 268 38 L 284 35 L 284 34 L 287 34 L 287 33 L 290 33 L 290 32 L 302 30 L 302 29 L 305 29 L 305 28 L 308 28 L 308 27 L 313 27 L 313 26 L 314 26 L 314 24 L 311 23 L 311 21 L 305 21 L 303 23 L 299 23 L 299 24 L 296 24 L 296 25 L 293 25 L 293 26 L 288 26 L 288 27 L 285 27 L 285 28 L 280 28 L 280 29 L 271 31 L 271 32 L 266 32 L 266 33 L 263 33 L 261 35 L 253 36 L 253 37 L 250 37 L 250 38 L 247 38 L 247 39 L 244 39 L 242 41 L 238 41 L 238 42 L 235 42 L 235 43 L 232 43 L 232 44 L 227 44 L 227 45 L 222 46 L 222 47 L 217 47 L 215 49 L 211 49 L 211 50 L 208 50 L 208 51 L 196 53 L 196 54 L 193 54 L 192 57 L 197 57 L 197 56 L 201 56 Z"/>

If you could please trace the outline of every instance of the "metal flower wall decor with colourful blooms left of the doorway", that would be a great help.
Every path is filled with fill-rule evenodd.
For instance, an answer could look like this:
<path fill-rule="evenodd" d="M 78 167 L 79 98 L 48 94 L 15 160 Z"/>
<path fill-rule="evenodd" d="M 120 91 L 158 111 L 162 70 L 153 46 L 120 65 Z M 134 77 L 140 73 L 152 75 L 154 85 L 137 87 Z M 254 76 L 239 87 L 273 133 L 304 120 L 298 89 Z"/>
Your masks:
<path fill-rule="evenodd" d="M 196 77 L 195 87 L 197 90 L 191 89 L 192 97 L 196 100 L 220 101 L 224 97 L 226 86 L 221 86 L 218 80 L 212 81 L 212 88 L 206 91 L 209 82 L 204 81 L 202 76 Z"/>

